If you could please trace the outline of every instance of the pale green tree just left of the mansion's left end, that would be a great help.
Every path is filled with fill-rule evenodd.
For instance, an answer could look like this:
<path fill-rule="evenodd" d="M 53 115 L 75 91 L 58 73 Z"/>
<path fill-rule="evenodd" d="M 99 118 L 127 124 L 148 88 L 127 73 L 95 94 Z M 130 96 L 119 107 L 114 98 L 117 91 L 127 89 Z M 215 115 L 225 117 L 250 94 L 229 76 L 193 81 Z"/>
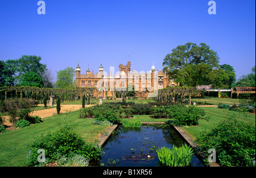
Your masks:
<path fill-rule="evenodd" d="M 73 77 L 75 75 L 75 69 L 67 67 L 64 70 L 57 72 L 56 88 L 61 89 L 74 89 L 76 87 Z"/>

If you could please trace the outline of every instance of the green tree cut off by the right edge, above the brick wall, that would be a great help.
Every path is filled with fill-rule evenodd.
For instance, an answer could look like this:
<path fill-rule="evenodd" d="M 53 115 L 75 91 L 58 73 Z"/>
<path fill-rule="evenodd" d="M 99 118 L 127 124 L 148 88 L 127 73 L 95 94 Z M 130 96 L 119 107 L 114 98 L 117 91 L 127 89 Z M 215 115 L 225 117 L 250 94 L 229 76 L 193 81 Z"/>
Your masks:
<path fill-rule="evenodd" d="M 236 86 L 255 87 L 255 65 L 251 69 L 251 73 L 243 75 L 241 78 L 238 79 L 238 81 L 236 82 Z"/>

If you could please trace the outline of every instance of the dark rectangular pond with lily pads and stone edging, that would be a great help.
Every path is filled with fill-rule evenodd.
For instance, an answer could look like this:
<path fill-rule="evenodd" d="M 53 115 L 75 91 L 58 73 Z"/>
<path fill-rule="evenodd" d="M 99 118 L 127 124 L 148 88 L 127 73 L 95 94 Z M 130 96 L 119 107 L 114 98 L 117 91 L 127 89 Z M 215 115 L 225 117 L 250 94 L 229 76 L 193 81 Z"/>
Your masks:
<path fill-rule="evenodd" d="M 122 125 L 107 140 L 99 162 L 91 162 L 90 166 L 120 167 L 156 167 L 163 166 L 156 150 L 159 147 L 172 148 L 186 144 L 171 126 L 142 125 L 140 128 L 126 128 Z M 193 155 L 191 167 L 204 166 Z"/>

